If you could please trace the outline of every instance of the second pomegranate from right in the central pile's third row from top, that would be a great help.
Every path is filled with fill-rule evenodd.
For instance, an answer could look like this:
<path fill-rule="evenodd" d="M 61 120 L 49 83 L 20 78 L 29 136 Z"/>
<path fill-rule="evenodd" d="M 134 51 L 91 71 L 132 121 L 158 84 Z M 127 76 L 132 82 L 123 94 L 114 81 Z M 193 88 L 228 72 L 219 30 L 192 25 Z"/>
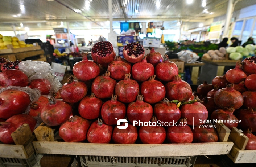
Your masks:
<path fill-rule="evenodd" d="M 155 77 L 156 75 L 151 76 L 140 85 L 140 94 L 143 95 L 144 101 L 150 104 L 160 102 L 165 97 L 165 87 L 160 81 L 155 80 Z"/>

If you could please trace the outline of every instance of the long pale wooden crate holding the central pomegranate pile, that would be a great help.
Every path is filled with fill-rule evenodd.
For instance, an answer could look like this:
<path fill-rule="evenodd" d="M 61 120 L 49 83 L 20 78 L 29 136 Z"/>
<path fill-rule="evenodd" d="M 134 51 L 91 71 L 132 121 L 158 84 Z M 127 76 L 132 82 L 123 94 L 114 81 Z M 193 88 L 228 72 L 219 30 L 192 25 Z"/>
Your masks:
<path fill-rule="evenodd" d="M 230 129 L 224 124 L 218 124 L 216 130 L 218 131 L 220 142 L 215 143 L 94 144 L 53 141 L 52 129 L 41 124 L 35 130 L 37 140 L 41 141 L 33 141 L 33 145 L 37 153 L 66 155 L 167 157 L 228 154 L 234 145 L 233 142 L 227 142 Z"/>

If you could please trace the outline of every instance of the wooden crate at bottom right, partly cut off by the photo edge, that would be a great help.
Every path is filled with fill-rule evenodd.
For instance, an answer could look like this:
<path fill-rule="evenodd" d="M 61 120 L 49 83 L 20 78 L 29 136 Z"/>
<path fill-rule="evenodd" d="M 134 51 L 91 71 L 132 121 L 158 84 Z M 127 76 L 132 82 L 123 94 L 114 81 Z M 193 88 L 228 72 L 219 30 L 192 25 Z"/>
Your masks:
<path fill-rule="evenodd" d="M 256 150 L 244 150 L 249 138 L 233 127 L 229 136 L 229 141 L 234 143 L 228 157 L 234 163 L 256 163 Z"/>

